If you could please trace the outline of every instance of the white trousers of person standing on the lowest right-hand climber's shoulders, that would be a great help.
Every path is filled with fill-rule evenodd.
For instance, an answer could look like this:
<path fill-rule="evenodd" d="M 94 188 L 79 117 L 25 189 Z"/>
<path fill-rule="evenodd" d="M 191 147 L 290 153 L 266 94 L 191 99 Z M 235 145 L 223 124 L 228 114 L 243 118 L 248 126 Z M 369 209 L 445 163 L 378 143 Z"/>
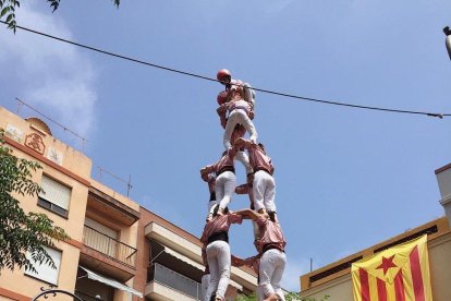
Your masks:
<path fill-rule="evenodd" d="M 276 181 L 271 174 L 264 170 L 255 172 L 253 192 L 256 210 L 265 208 L 267 212 L 276 212 Z"/>

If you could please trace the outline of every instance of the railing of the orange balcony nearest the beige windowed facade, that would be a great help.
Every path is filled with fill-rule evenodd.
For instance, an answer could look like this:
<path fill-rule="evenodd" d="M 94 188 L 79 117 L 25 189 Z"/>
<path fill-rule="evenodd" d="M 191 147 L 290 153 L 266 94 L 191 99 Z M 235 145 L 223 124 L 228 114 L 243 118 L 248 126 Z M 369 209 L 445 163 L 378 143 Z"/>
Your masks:
<path fill-rule="evenodd" d="M 83 243 L 113 260 L 130 266 L 135 266 L 135 248 L 110 238 L 86 225 L 83 229 Z"/>

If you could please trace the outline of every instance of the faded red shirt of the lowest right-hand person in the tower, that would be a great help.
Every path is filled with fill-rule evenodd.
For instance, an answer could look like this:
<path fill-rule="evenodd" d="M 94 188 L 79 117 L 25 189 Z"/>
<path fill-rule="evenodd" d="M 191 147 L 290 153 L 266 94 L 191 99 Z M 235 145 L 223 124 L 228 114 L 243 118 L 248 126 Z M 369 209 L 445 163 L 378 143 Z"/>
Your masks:
<path fill-rule="evenodd" d="M 280 250 L 283 251 L 285 248 L 287 241 L 283 237 L 282 229 L 279 226 L 279 222 L 273 222 L 270 219 L 260 216 L 256 220 L 258 225 L 259 239 L 257 241 L 258 252 L 261 254 L 265 245 L 275 244 Z"/>

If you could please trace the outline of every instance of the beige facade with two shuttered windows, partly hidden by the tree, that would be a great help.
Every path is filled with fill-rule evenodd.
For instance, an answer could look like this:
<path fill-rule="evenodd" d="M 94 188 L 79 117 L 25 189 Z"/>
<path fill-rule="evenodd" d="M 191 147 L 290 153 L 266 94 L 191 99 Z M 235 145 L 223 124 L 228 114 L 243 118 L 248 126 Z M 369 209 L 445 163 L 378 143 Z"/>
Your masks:
<path fill-rule="evenodd" d="M 29 300 L 41 287 L 48 288 L 49 285 L 74 291 L 80 250 L 83 245 L 83 220 L 90 186 L 92 161 L 54 140 L 46 124 L 37 119 L 26 121 L 0 108 L 0 128 L 4 129 L 5 142 L 13 149 L 14 156 L 39 161 L 42 166 L 33 177 L 35 182 L 51 182 L 56 190 L 64 191 L 61 194 L 65 198 L 69 194 L 69 200 L 61 201 L 58 205 L 56 201 L 46 200 L 53 196 L 21 197 L 21 206 L 25 212 L 48 215 L 56 226 L 63 228 L 71 237 L 70 241 L 59 242 L 57 249 L 52 250 L 56 256 L 52 257 L 59 260 L 59 268 L 52 275 L 46 275 L 45 279 L 24 270 L 3 269 L 0 276 L 0 296 L 12 300 Z"/>

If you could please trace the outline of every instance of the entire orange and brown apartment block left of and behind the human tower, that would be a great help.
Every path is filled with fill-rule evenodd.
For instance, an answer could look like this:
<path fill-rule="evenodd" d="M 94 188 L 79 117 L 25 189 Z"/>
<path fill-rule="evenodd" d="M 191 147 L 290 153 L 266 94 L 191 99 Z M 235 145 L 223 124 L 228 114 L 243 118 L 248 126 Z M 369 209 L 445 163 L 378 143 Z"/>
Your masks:
<path fill-rule="evenodd" d="M 86 301 L 199 300 L 197 237 L 95 181 L 90 158 L 53 137 L 42 120 L 0 107 L 0 128 L 14 156 L 42 166 L 33 180 L 45 193 L 21 196 L 21 206 L 46 214 L 71 237 L 48 248 L 57 269 L 1 270 L 0 300 L 32 300 L 51 287 Z M 231 274 L 230 299 L 255 291 L 252 270 L 233 267 Z M 56 300 L 73 299 L 60 293 Z"/>

